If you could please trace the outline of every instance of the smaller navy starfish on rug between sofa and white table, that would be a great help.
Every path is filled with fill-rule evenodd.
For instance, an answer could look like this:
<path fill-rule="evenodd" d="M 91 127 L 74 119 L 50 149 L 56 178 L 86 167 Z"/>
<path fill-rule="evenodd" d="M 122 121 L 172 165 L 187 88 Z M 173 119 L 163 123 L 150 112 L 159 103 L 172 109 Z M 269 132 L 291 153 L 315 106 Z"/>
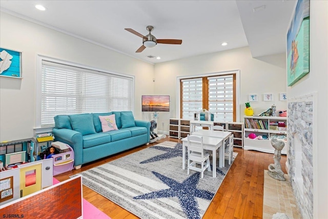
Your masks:
<path fill-rule="evenodd" d="M 176 146 L 174 148 L 163 147 L 163 146 L 153 146 L 151 148 L 162 150 L 162 151 L 167 151 L 167 153 L 159 154 L 157 156 L 149 158 L 146 161 L 141 161 L 140 164 L 147 164 L 147 163 L 152 163 L 152 162 L 157 162 L 157 161 L 163 161 L 163 160 L 168 160 L 173 157 L 182 156 L 182 144 L 181 143 L 176 144 Z"/>

